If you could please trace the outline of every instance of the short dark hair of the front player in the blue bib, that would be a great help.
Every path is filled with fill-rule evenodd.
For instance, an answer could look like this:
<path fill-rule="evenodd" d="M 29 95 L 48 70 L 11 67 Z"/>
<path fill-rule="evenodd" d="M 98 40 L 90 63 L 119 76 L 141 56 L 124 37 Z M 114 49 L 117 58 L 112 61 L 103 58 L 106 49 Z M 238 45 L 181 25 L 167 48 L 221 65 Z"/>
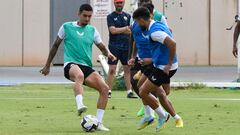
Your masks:
<path fill-rule="evenodd" d="M 149 20 L 150 19 L 150 12 L 147 8 L 145 7 L 140 7 L 133 13 L 133 19 L 144 19 L 144 20 Z"/>

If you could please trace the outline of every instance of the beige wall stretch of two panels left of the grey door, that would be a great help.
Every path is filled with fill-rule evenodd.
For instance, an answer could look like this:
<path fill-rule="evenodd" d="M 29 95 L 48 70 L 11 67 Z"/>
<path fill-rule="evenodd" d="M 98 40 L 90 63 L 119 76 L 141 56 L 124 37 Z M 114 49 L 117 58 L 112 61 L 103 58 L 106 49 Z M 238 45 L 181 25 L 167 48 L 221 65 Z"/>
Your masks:
<path fill-rule="evenodd" d="M 1 0 L 0 66 L 36 66 L 49 52 L 49 0 Z"/>

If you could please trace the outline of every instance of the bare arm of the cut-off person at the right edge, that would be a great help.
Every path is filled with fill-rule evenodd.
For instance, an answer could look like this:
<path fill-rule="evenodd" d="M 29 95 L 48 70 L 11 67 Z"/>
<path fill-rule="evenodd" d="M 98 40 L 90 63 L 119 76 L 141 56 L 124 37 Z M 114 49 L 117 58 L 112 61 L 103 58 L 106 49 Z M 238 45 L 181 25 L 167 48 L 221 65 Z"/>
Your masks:
<path fill-rule="evenodd" d="M 240 33 L 240 22 L 238 21 L 235 30 L 234 30 L 234 35 L 233 35 L 233 56 L 237 58 L 238 56 L 238 49 L 237 49 L 237 40 L 238 40 L 238 36 Z"/>

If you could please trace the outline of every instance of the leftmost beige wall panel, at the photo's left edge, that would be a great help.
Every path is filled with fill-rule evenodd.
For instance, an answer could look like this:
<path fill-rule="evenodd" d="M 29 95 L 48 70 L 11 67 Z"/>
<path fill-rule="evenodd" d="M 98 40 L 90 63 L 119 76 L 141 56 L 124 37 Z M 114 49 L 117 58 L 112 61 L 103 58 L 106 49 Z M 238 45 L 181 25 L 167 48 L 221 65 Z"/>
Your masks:
<path fill-rule="evenodd" d="M 0 65 L 22 65 L 22 1 L 3 0 L 0 2 Z"/>

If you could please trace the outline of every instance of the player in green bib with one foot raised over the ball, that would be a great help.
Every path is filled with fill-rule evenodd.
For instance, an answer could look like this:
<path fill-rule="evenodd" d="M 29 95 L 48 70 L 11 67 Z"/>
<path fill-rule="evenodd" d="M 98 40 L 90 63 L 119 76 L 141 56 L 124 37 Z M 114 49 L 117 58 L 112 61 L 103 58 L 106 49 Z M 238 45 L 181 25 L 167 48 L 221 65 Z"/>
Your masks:
<path fill-rule="evenodd" d="M 40 72 L 45 76 L 49 74 L 51 62 L 61 42 L 64 41 L 64 75 L 67 79 L 74 82 L 73 90 L 78 114 L 81 115 L 87 110 L 87 107 L 83 104 L 83 85 L 96 89 L 99 92 L 96 113 L 99 121 L 98 130 L 109 131 L 102 124 L 108 102 L 109 87 L 98 72 L 92 69 L 92 45 L 95 44 L 109 59 L 115 60 L 116 58 L 102 43 L 97 29 L 89 25 L 92 13 L 92 7 L 89 4 L 83 4 L 79 9 L 79 20 L 66 22 L 61 26 L 57 39 L 50 50 L 47 62 Z"/>

